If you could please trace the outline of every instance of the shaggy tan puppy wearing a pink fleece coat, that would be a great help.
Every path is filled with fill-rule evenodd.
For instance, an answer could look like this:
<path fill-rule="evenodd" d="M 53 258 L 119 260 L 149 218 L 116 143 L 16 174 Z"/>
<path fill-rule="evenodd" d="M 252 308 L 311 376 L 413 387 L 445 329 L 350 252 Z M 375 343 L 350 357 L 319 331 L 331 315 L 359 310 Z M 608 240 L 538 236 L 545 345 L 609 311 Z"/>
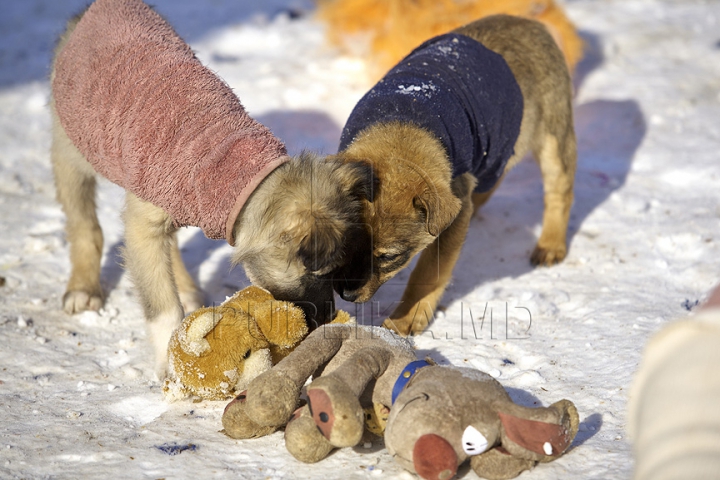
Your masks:
<path fill-rule="evenodd" d="M 125 261 L 164 372 L 168 339 L 202 295 L 175 232 L 199 226 L 277 299 L 323 323 L 324 276 L 346 261 L 366 168 L 287 155 L 230 87 L 140 0 L 98 0 L 70 21 L 52 72 L 52 162 L 67 216 L 68 313 L 102 305 L 95 173 L 127 190 Z"/>

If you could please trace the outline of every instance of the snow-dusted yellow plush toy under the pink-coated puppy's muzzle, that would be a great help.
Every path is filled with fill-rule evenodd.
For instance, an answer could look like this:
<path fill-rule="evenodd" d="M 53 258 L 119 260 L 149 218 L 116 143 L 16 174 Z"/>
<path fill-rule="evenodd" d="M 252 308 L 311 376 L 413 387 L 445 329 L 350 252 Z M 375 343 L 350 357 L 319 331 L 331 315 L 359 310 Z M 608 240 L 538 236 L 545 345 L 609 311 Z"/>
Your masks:
<path fill-rule="evenodd" d="M 340 312 L 335 322 L 345 323 Z M 308 333 L 303 311 L 260 287 L 247 287 L 221 305 L 188 315 L 168 345 L 169 401 L 225 400 L 287 356 Z"/>

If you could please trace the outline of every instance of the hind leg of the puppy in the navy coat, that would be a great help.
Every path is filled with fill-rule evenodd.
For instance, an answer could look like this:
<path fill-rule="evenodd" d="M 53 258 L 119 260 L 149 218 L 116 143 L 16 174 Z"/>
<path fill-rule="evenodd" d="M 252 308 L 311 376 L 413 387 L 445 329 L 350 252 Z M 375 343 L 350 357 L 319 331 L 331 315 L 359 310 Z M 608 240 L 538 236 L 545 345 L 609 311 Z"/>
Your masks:
<path fill-rule="evenodd" d="M 572 125 L 572 116 L 569 120 Z M 572 126 L 559 135 L 545 132 L 533 150 L 542 173 L 545 209 L 542 233 L 530 261 L 533 265 L 553 265 L 567 254 L 567 227 L 577 160 Z"/>

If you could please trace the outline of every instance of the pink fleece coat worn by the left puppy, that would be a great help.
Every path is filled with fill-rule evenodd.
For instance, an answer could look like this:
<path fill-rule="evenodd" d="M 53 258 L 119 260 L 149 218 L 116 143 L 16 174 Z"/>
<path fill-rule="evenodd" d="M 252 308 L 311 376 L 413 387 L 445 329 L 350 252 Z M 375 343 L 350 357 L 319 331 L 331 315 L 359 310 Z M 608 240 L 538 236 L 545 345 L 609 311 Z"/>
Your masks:
<path fill-rule="evenodd" d="M 252 191 L 285 162 L 172 27 L 141 0 L 97 0 L 55 64 L 55 107 L 68 137 L 110 181 L 232 244 Z"/>

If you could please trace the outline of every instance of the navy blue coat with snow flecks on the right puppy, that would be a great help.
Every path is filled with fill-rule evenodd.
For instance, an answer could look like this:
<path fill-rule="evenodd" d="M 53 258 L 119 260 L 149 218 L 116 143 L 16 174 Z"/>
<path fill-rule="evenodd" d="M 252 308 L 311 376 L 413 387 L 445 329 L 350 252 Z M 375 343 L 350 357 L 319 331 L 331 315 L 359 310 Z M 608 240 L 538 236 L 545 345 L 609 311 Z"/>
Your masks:
<path fill-rule="evenodd" d="M 355 106 L 340 150 L 375 123 L 412 122 L 437 136 L 453 178 L 472 172 L 476 192 L 500 179 L 520 133 L 523 98 L 497 53 L 465 35 L 432 38 L 393 67 Z"/>

